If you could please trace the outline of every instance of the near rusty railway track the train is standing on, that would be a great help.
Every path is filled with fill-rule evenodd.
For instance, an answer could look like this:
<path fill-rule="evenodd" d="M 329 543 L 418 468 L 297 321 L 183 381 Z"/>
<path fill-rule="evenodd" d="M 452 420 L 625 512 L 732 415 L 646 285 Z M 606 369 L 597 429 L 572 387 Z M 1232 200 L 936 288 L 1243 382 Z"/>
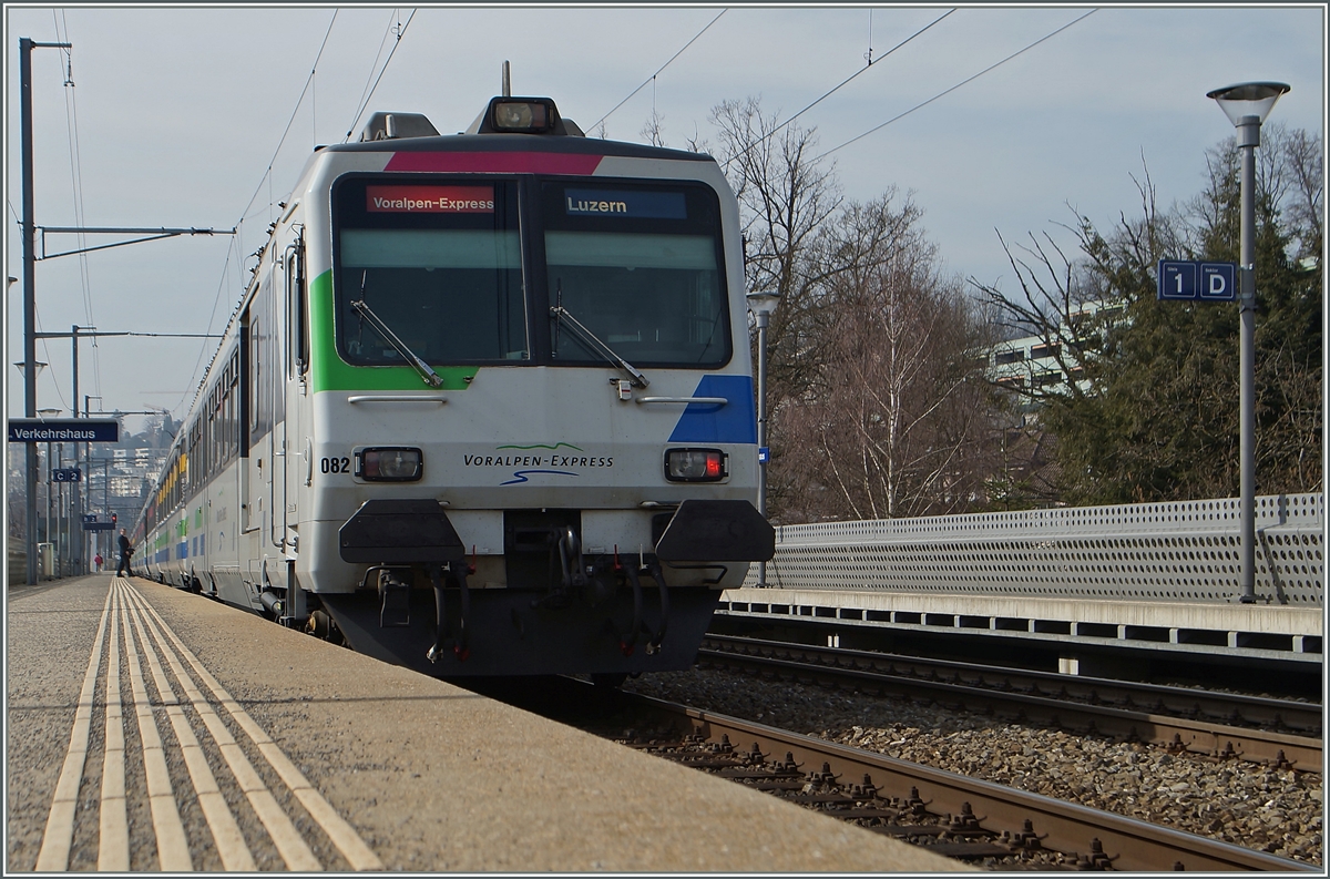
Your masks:
<path fill-rule="evenodd" d="M 624 697 L 676 733 L 625 745 L 994 870 L 1319 872 L 1287 858 L 919 763 L 645 695 Z"/>

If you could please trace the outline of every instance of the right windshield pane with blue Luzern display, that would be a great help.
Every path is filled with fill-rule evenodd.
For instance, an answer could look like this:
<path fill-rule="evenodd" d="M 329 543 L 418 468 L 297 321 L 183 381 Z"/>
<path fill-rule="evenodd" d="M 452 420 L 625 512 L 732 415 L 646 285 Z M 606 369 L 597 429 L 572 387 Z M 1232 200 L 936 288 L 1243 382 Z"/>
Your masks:
<path fill-rule="evenodd" d="M 561 305 L 634 366 L 720 366 L 730 359 L 716 194 L 701 185 L 545 182 L 545 274 Z M 560 363 L 601 355 L 559 320 Z"/>

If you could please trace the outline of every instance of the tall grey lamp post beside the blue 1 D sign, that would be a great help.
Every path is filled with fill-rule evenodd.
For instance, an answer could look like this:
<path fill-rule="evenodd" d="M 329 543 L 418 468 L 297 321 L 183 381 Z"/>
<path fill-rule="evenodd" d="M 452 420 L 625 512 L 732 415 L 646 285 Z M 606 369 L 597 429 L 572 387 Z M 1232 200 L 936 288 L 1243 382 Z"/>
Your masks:
<path fill-rule="evenodd" d="M 1238 129 L 1242 152 L 1242 245 L 1238 269 L 1242 274 L 1238 309 L 1242 319 L 1240 368 L 1241 399 L 1241 570 L 1238 601 L 1256 602 L 1256 148 L 1261 145 L 1261 124 L 1274 102 L 1289 90 L 1283 82 L 1240 82 L 1208 92 Z"/>

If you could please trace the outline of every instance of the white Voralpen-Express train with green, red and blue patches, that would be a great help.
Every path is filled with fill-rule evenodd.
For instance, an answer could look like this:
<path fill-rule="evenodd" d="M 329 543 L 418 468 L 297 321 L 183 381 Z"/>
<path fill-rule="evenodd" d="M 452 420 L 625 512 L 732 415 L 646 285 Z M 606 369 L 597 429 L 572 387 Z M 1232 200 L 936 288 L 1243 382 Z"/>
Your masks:
<path fill-rule="evenodd" d="M 278 207 L 134 573 L 436 677 L 689 668 L 775 540 L 716 160 L 505 94 Z"/>

